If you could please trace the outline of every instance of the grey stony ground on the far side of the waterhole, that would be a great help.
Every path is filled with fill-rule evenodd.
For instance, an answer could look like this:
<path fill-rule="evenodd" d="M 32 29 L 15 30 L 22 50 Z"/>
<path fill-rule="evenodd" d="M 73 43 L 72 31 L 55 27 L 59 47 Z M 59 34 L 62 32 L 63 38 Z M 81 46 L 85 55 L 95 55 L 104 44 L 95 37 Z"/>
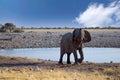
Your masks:
<path fill-rule="evenodd" d="M 120 29 L 87 29 L 92 37 L 85 47 L 120 47 Z M 0 48 L 59 47 L 62 35 L 73 29 L 27 29 L 24 33 L 0 33 Z"/>

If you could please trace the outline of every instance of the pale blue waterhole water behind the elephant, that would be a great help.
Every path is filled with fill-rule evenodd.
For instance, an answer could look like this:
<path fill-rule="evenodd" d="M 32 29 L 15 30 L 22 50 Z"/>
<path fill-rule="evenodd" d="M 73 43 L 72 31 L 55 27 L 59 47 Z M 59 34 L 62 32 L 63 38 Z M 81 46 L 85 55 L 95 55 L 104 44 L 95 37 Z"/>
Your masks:
<path fill-rule="evenodd" d="M 120 48 L 84 48 L 83 52 L 84 61 L 120 62 Z M 2 49 L 0 50 L 0 55 L 58 61 L 60 48 Z M 63 60 L 66 61 L 66 55 L 64 55 Z M 71 54 L 71 61 L 74 61 L 73 54 Z"/>

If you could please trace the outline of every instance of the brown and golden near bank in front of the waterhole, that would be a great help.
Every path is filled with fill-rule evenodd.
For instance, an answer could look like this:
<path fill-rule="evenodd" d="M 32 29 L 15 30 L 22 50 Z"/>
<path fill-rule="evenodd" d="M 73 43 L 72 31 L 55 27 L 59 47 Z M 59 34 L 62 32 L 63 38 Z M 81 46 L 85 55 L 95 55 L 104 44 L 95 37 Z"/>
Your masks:
<path fill-rule="evenodd" d="M 0 80 L 120 80 L 120 63 L 59 65 L 55 61 L 0 56 Z"/>

